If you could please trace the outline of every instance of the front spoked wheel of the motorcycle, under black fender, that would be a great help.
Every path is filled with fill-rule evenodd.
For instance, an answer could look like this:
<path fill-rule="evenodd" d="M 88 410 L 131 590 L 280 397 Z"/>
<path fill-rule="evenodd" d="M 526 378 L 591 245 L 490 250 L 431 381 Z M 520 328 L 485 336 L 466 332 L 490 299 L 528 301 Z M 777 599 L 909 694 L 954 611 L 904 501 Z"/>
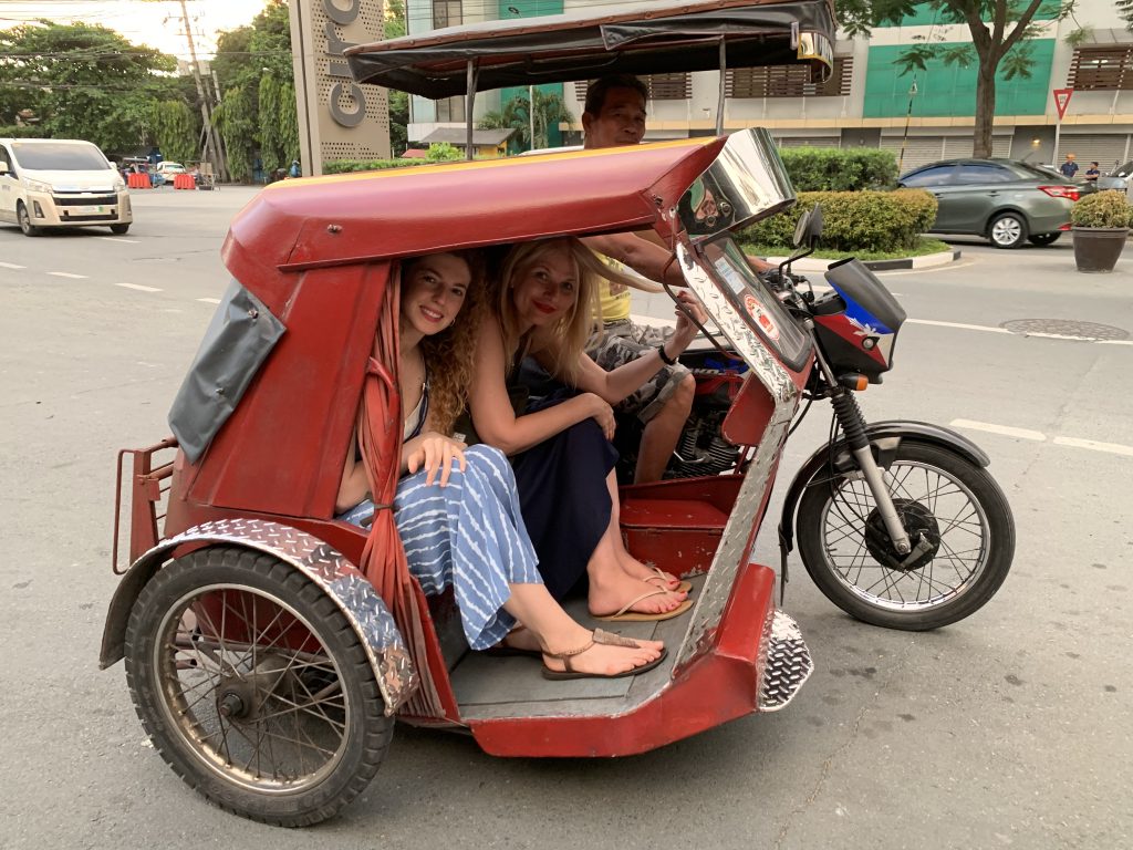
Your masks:
<path fill-rule="evenodd" d="M 819 589 L 874 626 L 921 631 L 982 607 L 1007 578 L 1015 522 L 988 471 L 952 451 L 905 440 L 884 470 L 906 528 L 930 550 L 909 567 L 884 533 L 860 478 L 820 469 L 799 503 L 799 554 Z"/>

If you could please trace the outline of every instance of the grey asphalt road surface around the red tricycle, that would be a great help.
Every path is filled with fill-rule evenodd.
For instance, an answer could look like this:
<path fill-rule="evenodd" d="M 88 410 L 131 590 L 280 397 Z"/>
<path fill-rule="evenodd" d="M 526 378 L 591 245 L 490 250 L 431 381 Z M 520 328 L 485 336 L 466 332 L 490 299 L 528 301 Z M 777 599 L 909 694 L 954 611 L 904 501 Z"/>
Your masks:
<path fill-rule="evenodd" d="M 135 193 L 125 238 L 0 228 L 0 845 L 1133 845 L 1133 252 L 1084 275 L 1068 240 L 971 241 L 952 266 L 884 275 L 911 321 L 866 415 L 966 423 L 1015 512 L 1012 573 L 969 620 L 862 626 L 794 558 L 786 606 L 817 669 L 778 714 L 602 762 L 496 759 L 399 728 L 370 788 L 321 827 L 211 807 L 148 746 L 121 665 L 100 672 L 97 649 L 114 453 L 168 433 L 228 282 L 221 239 L 252 194 Z M 1017 320 L 1097 323 L 1125 343 L 1003 332 Z M 816 406 L 791 437 L 781 482 L 827 417 Z M 773 526 L 758 554 L 775 562 Z"/>

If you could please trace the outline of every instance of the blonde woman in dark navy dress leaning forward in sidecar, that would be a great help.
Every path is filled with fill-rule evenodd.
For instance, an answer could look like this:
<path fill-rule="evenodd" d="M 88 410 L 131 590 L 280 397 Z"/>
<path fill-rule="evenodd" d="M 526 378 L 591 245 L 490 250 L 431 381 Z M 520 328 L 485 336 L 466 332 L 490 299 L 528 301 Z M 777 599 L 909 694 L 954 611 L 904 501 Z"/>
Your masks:
<path fill-rule="evenodd" d="M 594 330 L 598 280 L 634 288 L 640 280 L 607 267 L 578 239 L 516 246 L 504 258 L 494 312 L 480 321 L 469 407 L 479 437 L 512 461 L 520 505 L 555 598 L 585 575 L 590 613 L 608 620 L 664 620 L 690 606 L 688 585 L 634 559 L 617 525 L 616 452 L 611 408 L 675 360 L 697 329 L 676 312 L 661 350 L 603 371 L 583 352 Z M 691 297 L 685 307 L 704 321 Z M 508 385 L 519 363 L 535 357 L 577 392 L 513 410 Z"/>

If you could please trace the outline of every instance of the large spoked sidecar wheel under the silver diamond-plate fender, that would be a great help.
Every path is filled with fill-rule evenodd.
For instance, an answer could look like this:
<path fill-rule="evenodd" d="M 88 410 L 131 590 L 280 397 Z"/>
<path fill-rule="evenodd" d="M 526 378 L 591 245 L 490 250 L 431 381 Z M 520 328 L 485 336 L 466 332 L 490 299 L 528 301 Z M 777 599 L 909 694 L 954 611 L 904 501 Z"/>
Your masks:
<path fill-rule="evenodd" d="M 377 773 L 393 732 L 366 653 L 317 585 L 271 555 L 193 552 L 143 589 L 126 678 L 154 747 L 244 817 L 306 826 Z"/>

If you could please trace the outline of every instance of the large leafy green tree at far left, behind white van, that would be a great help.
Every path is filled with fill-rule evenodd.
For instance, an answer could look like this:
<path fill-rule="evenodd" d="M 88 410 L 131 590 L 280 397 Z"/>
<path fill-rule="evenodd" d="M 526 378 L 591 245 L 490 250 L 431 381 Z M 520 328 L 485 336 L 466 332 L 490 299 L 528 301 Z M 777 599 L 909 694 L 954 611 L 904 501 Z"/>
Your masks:
<path fill-rule="evenodd" d="M 102 26 L 17 26 L 0 32 L 0 121 L 29 114 L 44 136 L 133 151 L 156 139 L 155 104 L 184 103 L 176 78 L 161 76 L 174 69 L 172 57 Z"/>

